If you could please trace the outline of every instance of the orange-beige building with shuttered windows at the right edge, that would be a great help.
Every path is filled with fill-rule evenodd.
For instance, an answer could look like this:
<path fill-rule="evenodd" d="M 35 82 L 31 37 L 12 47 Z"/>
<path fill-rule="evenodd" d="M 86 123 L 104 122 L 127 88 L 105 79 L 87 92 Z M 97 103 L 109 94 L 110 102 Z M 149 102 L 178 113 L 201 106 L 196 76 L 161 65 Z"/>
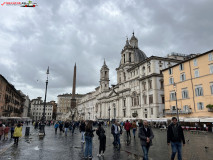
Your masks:
<path fill-rule="evenodd" d="M 213 50 L 193 55 L 163 71 L 165 115 L 213 118 Z M 176 106 L 177 97 L 177 106 Z"/>

